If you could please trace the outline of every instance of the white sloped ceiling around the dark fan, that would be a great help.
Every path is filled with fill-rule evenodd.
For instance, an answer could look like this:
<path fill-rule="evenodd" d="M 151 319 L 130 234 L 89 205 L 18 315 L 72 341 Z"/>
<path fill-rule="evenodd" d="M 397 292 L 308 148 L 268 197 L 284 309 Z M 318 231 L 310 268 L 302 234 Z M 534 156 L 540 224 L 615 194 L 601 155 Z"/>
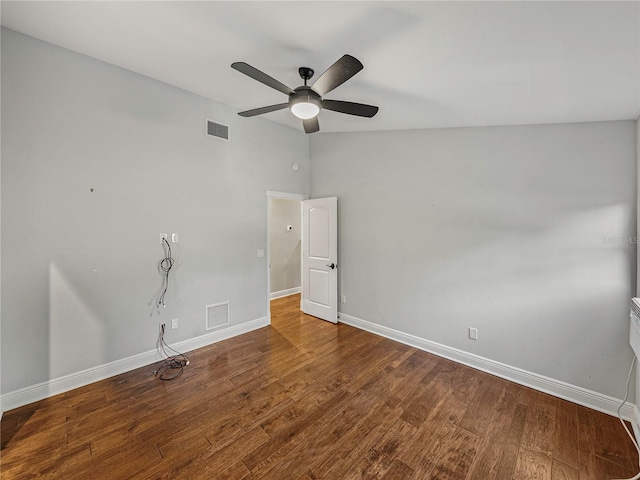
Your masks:
<path fill-rule="evenodd" d="M 2 25 L 240 110 L 286 96 L 345 53 L 364 70 L 326 98 L 321 130 L 633 119 L 640 114 L 640 2 L 10 2 Z M 288 110 L 264 115 L 301 129 Z M 250 122 L 248 118 L 244 121 Z"/>

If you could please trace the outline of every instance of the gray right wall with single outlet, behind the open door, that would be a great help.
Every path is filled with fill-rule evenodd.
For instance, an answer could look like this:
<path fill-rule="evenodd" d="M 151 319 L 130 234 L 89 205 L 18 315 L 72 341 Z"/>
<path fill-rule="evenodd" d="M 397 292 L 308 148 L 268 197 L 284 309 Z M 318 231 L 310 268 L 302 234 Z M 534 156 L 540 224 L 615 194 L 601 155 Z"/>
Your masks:
<path fill-rule="evenodd" d="M 312 196 L 339 197 L 341 311 L 620 398 L 635 128 L 313 136 Z"/>

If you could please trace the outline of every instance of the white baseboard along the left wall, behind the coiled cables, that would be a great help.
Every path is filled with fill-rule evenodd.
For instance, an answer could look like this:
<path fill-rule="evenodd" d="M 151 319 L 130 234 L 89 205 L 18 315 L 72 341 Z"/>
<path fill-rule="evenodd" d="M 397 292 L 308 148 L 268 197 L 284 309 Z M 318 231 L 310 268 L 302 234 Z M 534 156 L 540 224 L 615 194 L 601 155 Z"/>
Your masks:
<path fill-rule="evenodd" d="M 197 348 L 211 345 L 212 343 L 217 343 L 231 337 L 242 335 L 243 333 L 248 333 L 258 328 L 266 327 L 267 325 L 269 325 L 267 317 L 261 317 L 257 320 L 252 320 L 240 325 L 216 330 L 215 332 L 207 333 L 206 335 L 190 338 L 189 340 L 177 342 L 171 344 L 170 347 L 179 352 L 190 352 Z M 4 409 L 3 411 L 9 411 L 13 408 L 21 407 L 22 405 L 28 405 L 29 403 L 37 402 L 38 400 L 97 382 L 98 380 L 104 380 L 105 378 L 135 370 L 136 368 L 144 367 L 145 365 L 151 365 L 159 360 L 160 358 L 158 357 L 156 350 L 151 350 L 6 393 L 0 397 L 0 403 Z"/>

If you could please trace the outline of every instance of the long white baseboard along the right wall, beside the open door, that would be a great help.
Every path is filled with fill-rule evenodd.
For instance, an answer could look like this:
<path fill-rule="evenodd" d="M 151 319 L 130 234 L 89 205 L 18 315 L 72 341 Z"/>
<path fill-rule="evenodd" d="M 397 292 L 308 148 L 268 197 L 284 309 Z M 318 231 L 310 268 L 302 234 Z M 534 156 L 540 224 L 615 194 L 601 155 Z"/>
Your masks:
<path fill-rule="evenodd" d="M 361 330 L 366 330 L 367 332 L 395 340 L 405 345 L 433 353 L 440 357 L 448 358 L 454 362 L 462 363 L 463 365 L 482 370 L 483 372 L 510 380 L 520 385 L 548 393 L 555 397 L 569 400 L 570 402 L 577 403 L 578 405 L 583 405 L 600 412 L 608 413 L 609 415 L 617 416 L 618 406 L 622 403 L 622 399 L 613 398 L 602 393 L 587 390 L 586 388 L 571 385 L 527 370 L 522 370 L 521 368 L 512 367 L 473 353 L 448 347 L 446 345 L 400 332 L 389 327 L 377 325 L 357 317 L 352 317 L 345 313 L 340 313 L 338 321 Z M 625 420 L 633 421 L 634 408 L 635 406 L 633 404 L 626 402 L 621 408 L 622 417 Z M 637 418 L 640 419 L 640 416 Z"/>

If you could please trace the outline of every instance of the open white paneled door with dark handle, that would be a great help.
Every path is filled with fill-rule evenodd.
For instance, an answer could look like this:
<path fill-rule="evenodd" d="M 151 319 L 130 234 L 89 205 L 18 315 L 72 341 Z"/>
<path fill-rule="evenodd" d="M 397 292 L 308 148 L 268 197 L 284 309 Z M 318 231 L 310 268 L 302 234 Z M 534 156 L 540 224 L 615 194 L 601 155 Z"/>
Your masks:
<path fill-rule="evenodd" d="M 338 323 L 338 198 L 302 202 L 302 299 L 309 315 Z"/>

